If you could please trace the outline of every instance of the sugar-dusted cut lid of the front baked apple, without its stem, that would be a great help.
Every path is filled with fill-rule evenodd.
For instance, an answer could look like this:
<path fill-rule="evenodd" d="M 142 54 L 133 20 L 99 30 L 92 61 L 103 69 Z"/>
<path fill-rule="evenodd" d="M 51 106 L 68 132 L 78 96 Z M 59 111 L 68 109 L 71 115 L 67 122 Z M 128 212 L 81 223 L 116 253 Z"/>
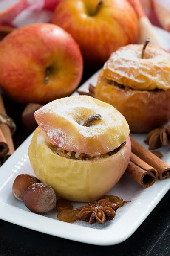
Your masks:
<path fill-rule="evenodd" d="M 89 127 L 85 121 L 95 114 Z M 118 148 L 129 135 L 129 125 L 113 106 L 90 96 L 54 100 L 35 112 L 35 119 L 48 142 L 67 151 L 105 154 Z"/>

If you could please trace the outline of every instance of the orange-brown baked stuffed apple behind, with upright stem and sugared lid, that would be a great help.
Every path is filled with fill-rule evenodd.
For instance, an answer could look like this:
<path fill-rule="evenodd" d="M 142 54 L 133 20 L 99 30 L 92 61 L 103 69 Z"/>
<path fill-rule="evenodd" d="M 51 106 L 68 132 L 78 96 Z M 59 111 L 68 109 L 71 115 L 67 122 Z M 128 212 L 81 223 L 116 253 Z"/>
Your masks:
<path fill-rule="evenodd" d="M 95 89 L 97 99 L 125 116 L 131 132 L 149 132 L 170 121 L 170 54 L 144 47 L 130 44 L 113 52 Z"/>

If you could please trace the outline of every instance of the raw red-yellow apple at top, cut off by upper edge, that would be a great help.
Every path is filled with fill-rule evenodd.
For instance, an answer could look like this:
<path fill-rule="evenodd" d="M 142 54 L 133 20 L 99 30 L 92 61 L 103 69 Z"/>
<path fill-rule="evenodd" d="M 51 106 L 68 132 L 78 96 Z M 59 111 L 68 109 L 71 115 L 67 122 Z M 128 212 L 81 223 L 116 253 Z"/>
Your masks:
<path fill-rule="evenodd" d="M 101 67 L 120 46 L 136 43 L 138 18 L 127 0 L 61 1 L 53 23 L 69 32 L 80 46 L 85 64 Z"/>

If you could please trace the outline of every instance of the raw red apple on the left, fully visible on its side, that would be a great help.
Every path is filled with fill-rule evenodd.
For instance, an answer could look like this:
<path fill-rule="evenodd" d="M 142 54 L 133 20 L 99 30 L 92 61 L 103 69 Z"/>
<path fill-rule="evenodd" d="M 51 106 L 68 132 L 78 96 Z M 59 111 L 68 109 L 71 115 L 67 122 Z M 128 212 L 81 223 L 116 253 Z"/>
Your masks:
<path fill-rule="evenodd" d="M 18 102 L 44 104 L 68 96 L 77 88 L 82 70 L 78 44 L 56 25 L 25 26 L 0 42 L 0 84 Z"/>

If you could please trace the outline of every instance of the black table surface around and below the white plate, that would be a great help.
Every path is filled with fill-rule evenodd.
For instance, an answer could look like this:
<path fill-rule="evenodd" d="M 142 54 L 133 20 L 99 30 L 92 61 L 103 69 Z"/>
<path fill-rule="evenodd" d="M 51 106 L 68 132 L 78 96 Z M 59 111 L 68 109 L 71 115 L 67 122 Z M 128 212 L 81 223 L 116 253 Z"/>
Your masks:
<path fill-rule="evenodd" d="M 82 82 L 93 73 L 92 70 L 86 70 Z M 17 124 L 17 132 L 13 137 L 17 148 L 30 134 L 21 122 L 24 106 L 12 102 L 5 95 L 3 99 L 8 115 Z M 98 254 L 170 256 L 170 191 L 129 239 L 114 246 L 83 244 L 0 220 L 0 256 L 95 256 Z"/>

